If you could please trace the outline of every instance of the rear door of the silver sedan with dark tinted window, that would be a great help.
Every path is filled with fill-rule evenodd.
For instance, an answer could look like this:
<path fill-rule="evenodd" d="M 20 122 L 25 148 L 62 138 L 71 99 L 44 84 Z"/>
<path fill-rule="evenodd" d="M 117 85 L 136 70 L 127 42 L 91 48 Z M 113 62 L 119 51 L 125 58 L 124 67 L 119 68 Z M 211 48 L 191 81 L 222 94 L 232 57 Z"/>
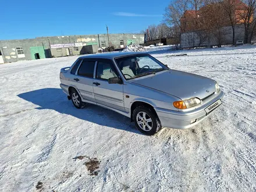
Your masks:
<path fill-rule="evenodd" d="M 96 102 L 93 90 L 94 68 L 94 59 L 83 59 L 74 78 L 81 97 L 92 102 Z"/>

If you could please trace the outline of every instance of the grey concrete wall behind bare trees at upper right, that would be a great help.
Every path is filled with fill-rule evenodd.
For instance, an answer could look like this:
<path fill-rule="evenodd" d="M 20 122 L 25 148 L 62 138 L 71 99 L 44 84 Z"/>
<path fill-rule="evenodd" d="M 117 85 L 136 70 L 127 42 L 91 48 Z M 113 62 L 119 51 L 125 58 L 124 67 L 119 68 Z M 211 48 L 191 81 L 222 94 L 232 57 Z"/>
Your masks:
<path fill-rule="evenodd" d="M 209 34 L 203 34 L 200 31 L 187 32 L 187 33 L 182 33 L 180 44 L 182 48 L 212 46 L 212 45 L 219 45 L 219 44 L 221 45 L 233 44 L 232 34 L 233 32 L 232 32 L 231 26 L 222 27 L 221 29 L 214 30 L 212 31 L 212 33 L 209 33 Z M 201 36 L 201 42 L 200 42 L 200 36 Z M 205 38 L 202 38 L 202 37 L 205 37 Z M 244 40 L 243 25 L 235 26 L 234 40 L 235 42 L 237 40 Z"/>

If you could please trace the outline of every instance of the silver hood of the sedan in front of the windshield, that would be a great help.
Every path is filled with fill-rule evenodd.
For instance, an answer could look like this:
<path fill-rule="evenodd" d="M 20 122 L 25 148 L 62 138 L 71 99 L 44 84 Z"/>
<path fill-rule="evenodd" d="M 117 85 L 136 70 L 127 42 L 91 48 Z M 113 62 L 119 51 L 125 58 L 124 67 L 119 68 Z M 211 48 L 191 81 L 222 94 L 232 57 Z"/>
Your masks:
<path fill-rule="evenodd" d="M 134 84 L 149 87 L 180 99 L 197 97 L 203 99 L 215 92 L 216 82 L 197 74 L 168 70 L 142 79 L 135 79 Z"/>

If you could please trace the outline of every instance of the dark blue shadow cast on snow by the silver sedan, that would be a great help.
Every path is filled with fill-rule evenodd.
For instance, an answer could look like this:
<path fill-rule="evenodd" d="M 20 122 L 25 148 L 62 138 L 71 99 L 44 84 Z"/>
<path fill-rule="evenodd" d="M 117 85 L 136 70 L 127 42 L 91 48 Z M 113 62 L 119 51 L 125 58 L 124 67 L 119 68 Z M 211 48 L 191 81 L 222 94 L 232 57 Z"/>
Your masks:
<path fill-rule="evenodd" d="M 72 101 L 67 99 L 66 94 L 63 93 L 61 88 L 42 88 L 17 96 L 35 105 L 39 105 L 40 107 L 36 109 L 52 109 L 98 125 L 141 134 L 136 129 L 134 123 L 130 122 L 129 118 L 117 112 L 93 104 L 87 104 L 83 109 L 75 108 Z"/>

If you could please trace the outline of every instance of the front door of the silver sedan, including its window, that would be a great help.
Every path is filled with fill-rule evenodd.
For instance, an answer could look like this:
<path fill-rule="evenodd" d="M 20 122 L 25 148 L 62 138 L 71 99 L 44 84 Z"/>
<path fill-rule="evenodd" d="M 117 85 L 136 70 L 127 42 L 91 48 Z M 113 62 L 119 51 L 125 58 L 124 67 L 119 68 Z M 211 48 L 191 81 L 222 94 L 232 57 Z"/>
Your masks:
<path fill-rule="evenodd" d="M 108 79 L 119 74 L 110 59 L 97 59 L 96 74 L 93 80 L 94 96 L 97 104 L 119 111 L 125 111 L 123 104 L 123 84 L 109 84 Z"/>

